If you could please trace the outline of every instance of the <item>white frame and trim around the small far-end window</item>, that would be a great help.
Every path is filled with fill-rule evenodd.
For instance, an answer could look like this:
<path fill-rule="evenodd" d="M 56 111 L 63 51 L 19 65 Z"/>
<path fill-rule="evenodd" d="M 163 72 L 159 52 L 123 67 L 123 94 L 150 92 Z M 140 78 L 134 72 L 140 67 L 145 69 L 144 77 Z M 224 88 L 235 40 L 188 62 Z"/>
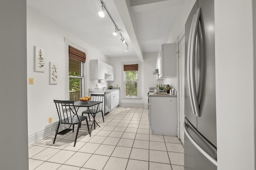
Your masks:
<path fill-rule="evenodd" d="M 138 64 L 138 72 L 137 72 L 137 96 L 125 96 L 125 71 L 124 65 L 126 64 Z M 122 69 L 122 99 L 141 99 L 141 63 L 140 61 L 133 61 L 133 62 L 122 62 L 121 63 Z"/>

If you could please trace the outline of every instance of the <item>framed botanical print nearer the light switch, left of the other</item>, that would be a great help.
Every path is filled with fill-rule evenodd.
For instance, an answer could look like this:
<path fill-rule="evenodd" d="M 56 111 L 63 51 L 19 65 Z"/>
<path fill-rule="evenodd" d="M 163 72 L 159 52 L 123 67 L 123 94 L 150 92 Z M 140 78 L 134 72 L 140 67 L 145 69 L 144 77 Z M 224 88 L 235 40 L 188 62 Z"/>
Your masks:
<path fill-rule="evenodd" d="M 34 46 L 34 71 L 45 72 L 45 51 L 44 49 Z"/>

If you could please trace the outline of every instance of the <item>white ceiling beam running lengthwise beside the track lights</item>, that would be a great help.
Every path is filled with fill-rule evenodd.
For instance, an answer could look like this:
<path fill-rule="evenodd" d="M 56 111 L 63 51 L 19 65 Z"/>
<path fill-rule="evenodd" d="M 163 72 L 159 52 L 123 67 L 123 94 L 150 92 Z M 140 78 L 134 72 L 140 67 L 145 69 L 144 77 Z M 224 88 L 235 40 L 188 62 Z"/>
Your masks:
<path fill-rule="evenodd" d="M 143 51 L 140 43 L 138 42 L 138 39 L 136 37 L 134 27 L 132 24 L 132 19 L 130 16 L 130 12 L 128 9 L 128 6 L 126 4 L 126 0 L 114 0 L 114 4 L 116 5 L 116 8 L 120 14 L 120 17 L 124 23 L 124 27 L 130 37 L 130 40 L 132 42 L 132 45 L 134 47 L 134 50 L 136 51 L 136 54 L 138 55 L 138 58 L 140 62 L 144 62 L 143 59 Z M 131 14 L 132 15 L 132 14 Z"/>

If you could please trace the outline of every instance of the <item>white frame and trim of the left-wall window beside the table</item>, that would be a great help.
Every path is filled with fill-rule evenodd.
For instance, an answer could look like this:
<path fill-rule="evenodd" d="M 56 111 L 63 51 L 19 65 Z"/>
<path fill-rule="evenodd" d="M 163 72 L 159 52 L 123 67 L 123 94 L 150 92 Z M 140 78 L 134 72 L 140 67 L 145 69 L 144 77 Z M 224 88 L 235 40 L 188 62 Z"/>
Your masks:
<path fill-rule="evenodd" d="M 69 39 L 67 39 L 66 37 L 64 38 L 64 42 L 65 42 L 65 100 L 69 100 L 69 78 L 82 78 L 81 82 L 82 82 L 82 86 L 80 84 L 80 89 L 82 89 L 82 92 L 80 92 L 80 95 L 84 96 L 85 94 L 88 93 L 87 90 L 87 83 L 86 83 L 86 78 L 87 78 L 87 74 L 86 74 L 86 70 L 87 70 L 87 63 L 82 63 L 80 62 L 80 64 L 82 64 L 82 66 L 80 65 L 80 74 L 83 76 L 69 76 L 68 74 L 68 66 L 69 66 L 69 51 L 68 51 L 68 46 L 72 46 L 80 51 L 83 51 L 84 53 L 86 53 L 87 56 L 87 50 L 84 49 L 83 47 L 80 47 L 79 45 L 77 45 L 76 43 L 73 43 L 72 41 L 70 41 Z"/>

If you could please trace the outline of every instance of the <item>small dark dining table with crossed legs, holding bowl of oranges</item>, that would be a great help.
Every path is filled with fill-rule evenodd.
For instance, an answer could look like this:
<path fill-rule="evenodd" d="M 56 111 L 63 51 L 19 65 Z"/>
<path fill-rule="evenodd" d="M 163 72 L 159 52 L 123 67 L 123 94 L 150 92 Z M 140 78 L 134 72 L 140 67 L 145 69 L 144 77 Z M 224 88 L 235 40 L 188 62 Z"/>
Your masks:
<path fill-rule="evenodd" d="M 90 111 L 90 107 L 95 106 L 95 105 L 98 105 L 97 106 L 97 110 L 98 110 L 99 109 L 99 105 L 101 103 L 103 103 L 103 102 L 98 102 L 98 101 L 88 101 L 88 102 L 77 101 L 77 102 L 74 102 L 74 106 L 78 107 L 76 112 L 78 111 L 79 107 L 87 107 L 87 109 Z M 96 113 L 92 113 L 91 111 L 90 111 L 90 113 L 91 113 L 91 115 L 93 117 L 92 126 L 94 125 L 94 129 L 95 129 L 95 123 L 100 127 L 100 125 L 95 120 Z M 90 137 L 91 137 L 91 132 L 92 132 L 92 126 L 91 126 L 91 129 L 90 129 Z"/>

